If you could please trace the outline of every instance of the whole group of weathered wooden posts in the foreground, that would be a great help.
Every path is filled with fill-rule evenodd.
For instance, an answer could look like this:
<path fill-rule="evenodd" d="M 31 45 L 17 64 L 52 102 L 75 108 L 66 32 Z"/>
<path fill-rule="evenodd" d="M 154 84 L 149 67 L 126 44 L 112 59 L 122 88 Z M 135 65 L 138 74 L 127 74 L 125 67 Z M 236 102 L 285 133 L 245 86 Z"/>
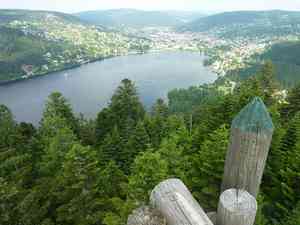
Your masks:
<path fill-rule="evenodd" d="M 233 120 L 217 212 L 205 213 L 179 179 L 158 184 L 150 206 L 129 216 L 127 225 L 253 225 L 274 126 L 260 98 Z"/>

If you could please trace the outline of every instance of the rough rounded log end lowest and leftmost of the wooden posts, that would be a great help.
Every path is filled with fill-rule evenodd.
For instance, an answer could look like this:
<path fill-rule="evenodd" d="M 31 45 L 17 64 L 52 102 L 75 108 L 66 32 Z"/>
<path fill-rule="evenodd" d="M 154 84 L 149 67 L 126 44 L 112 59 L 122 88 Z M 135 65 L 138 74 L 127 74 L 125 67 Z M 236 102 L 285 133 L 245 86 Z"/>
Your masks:
<path fill-rule="evenodd" d="M 142 206 L 132 212 L 127 220 L 127 225 L 166 225 L 161 213 L 149 206 Z"/>

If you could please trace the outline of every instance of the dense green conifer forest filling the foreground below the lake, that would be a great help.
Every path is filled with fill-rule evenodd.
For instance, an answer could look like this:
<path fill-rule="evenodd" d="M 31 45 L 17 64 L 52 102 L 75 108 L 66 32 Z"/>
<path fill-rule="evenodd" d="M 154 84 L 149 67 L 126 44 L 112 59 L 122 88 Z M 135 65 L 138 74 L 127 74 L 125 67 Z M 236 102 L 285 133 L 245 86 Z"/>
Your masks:
<path fill-rule="evenodd" d="M 230 123 L 260 96 L 276 130 L 256 224 L 299 225 L 300 86 L 280 103 L 272 71 L 266 65 L 226 95 L 212 86 L 175 90 L 151 112 L 125 79 L 95 120 L 74 115 L 60 93 L 49 96 L 39 127 L 0 106 L 0 224 L 122 225 L 171 177 L 216 209 Z"/>

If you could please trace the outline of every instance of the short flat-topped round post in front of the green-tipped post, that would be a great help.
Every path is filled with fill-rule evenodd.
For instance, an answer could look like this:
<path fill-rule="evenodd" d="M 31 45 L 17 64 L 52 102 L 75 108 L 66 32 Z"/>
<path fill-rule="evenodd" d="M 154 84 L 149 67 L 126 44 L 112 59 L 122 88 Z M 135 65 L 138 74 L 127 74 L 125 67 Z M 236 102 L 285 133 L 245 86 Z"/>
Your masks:
<path fill-rule="evenodd" d="M 256 199 L 247 191 L 226 190 L 220 197 L 217 225 L 253 225 L 256 211 Z"/>

